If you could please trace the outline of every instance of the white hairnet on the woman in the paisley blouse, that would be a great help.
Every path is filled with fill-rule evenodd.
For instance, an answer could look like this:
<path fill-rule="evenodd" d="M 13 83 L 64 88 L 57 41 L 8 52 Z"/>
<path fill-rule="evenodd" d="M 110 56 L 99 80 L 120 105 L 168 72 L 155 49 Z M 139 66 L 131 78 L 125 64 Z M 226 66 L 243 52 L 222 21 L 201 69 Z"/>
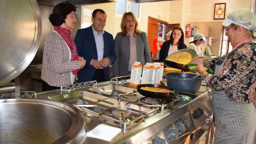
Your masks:
<path fill-rule="evenodd" d="M 229 26 L 231 23 L 256 32 L 256 17 L 249 9 L 240 8 L 234 10 L 227 16 L 222 25 Z"/>

